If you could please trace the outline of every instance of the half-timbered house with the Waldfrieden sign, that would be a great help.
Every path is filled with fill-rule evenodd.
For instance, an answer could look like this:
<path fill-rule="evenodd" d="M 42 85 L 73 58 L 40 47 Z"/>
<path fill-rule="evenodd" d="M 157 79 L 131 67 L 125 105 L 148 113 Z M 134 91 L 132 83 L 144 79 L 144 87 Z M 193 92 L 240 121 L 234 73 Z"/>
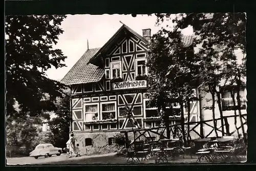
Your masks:
<path fill-rule="evenodd" d="M 148 105 L 145 97 L 145 62 L 151 29 L 142 33 L 141 36 L 122 25 L 103 47 L 88 49 L 61 80 L 72 89 L 71 131 L 80 144 L 81 154 L 115 151 L 113 137 L 136 127 L 134 119 L 142 128 L 160 125 L 156 108 Z M 183 37 L 182 42 L 189 48 L 193 36 Z M 126 117 L 126 105 L 133 106 L 132 120 Z M 199 106 L 199 101 L 191 102 L 190 121 L 199 121 Z M 182 110 L 187 120 L 187 109 Z M 170 118 L 171 123 L 179 119 Z"/>

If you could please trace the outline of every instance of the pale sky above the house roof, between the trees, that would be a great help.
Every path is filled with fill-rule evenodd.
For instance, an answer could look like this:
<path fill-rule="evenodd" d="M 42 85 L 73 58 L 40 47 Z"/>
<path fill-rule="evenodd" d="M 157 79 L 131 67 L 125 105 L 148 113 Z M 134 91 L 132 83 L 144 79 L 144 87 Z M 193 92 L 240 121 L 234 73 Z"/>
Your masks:
<path fill-rule="evenodd" d="M 67 67 L 52 68 L 47 71 L 50 79 L 61 80 L 69 70 L 75 65 L 77 60 L 87 50 L 87 39 L 89 49 L 101 48 L 122 26 L 121 21 L 138 34 L 142 35 L 142 29 L 151 29 L 151 35 L 155 34 L 161 27 L 165 27 L 166 23 L 156 26 L 156 16 L 137 15 L 67 15 L 67 18 L 61 23 L 64 31 L 59 35 L 59 40 L 54 48 L 62 50 L 67 56 L 65 63 Z M 169 24 L 170 25 L 170 24 Z M 182 30 L 184 35 L 193 34 L 193 28 L 188 27 Z"/>

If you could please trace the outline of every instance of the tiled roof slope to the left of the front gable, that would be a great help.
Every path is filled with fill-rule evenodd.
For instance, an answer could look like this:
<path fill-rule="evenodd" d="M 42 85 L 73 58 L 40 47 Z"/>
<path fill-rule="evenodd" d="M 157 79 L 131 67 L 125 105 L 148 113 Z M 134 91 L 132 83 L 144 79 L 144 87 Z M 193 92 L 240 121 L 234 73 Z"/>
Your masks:
<path fill-rule="evenodd" d="M 100 48 L 87 50 L 60 82 L 72 85 L 100 81 L 104 70 L 91 63 L 87 64 L 99 50 Z"/>

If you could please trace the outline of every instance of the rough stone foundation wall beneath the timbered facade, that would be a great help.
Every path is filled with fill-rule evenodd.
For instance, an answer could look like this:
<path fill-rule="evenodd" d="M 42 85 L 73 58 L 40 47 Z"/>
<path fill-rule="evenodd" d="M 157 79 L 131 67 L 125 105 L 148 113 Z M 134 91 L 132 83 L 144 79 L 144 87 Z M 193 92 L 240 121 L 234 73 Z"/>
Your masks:
<path fill-rule="evenodd" d="M 112 138 L 120 132 L 108 133 L 74 133 L 76 144 L 79 144 L 80 155 L 107 154 L 115 153 L 123 148 L 116 143 L 109 145 L 109 138 Z M 92 139 L 92 145 L 86 146 L 86 138 Z"/>

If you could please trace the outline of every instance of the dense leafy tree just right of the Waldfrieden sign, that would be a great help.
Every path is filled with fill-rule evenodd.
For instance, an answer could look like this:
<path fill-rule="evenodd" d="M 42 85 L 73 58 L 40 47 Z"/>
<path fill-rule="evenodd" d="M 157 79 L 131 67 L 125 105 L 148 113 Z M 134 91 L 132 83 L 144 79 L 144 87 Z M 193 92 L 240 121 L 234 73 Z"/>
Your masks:
<path fill-rule="evenodd" d="M 187 100 L 191 100 L 197 82 L 198 59 L 193 55 L 194 50 L 188 51 L 183 47 L 181 36 L 177 30 L 165 29 L 153 35 L 146 64 L 150 85 L 147 96 L 150 103 L 157 106 L 158 114 L 166 126 L 168 138 L 169 116 L 174 113 L 173 103 L 180 103 L 182 137 L 186 145 L 183 107 L 186 106 Z M 170 110 L 167 110 L 167 107 Z"/>

